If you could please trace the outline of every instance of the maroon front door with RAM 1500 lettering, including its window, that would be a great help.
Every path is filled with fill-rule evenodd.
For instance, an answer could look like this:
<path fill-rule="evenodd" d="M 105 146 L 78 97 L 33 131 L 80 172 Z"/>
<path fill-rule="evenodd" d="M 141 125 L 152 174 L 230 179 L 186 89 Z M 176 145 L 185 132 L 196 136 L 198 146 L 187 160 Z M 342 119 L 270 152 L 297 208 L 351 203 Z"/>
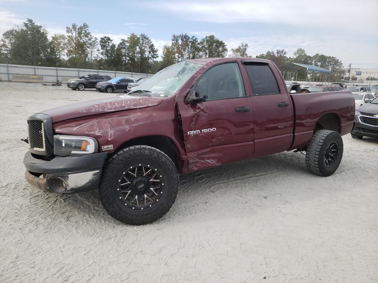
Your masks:
<path fill-rule="evenodd" d="M 188 171 L 248 159 L 253 155 L 253 111 L 237 62 L 215 65 L 195 83 L 191 92 L 205 102 L 181 100 Z"/>

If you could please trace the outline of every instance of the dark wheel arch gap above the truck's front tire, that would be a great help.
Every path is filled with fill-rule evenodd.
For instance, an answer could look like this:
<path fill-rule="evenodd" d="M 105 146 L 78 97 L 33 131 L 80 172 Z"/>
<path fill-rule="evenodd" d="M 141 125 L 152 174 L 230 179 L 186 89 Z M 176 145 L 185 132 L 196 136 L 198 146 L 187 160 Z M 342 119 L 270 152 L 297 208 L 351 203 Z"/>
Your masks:
<path fill-rule="evenodd" d="M 115 149 L 114 153 L 134 145 L 146 145 L 156 148 L 164 152 L 175 164 L 178 172 L 182 173 L 183 160 L 180 158 L 179 151 L 175 144 L 169 137 L 164 135 L 149 135 L 143 137 L 132 138 L 131 140 L 125 141 L 118 148 Z"/>

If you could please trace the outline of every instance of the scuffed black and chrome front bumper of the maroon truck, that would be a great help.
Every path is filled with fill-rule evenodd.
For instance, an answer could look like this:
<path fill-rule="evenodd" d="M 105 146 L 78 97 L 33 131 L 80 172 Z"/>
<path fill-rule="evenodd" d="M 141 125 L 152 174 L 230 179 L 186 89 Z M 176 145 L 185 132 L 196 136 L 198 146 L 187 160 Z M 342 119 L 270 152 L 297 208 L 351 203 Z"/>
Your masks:
<path fill-rule="evenodd" d="M 82 156 L 57 156 L 50 161 L 24 156 L 25 177 L 41 191 L 69 194 L 97 189 L 107 152 Z"/>

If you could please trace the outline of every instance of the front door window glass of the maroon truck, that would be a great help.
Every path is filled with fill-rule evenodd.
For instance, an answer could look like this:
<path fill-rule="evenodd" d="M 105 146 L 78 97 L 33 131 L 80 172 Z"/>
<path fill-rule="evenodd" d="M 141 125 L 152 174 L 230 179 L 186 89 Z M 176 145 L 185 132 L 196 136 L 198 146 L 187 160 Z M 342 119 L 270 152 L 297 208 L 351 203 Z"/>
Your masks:
<path fill-rule="evenodd" d="M 225 63 L 209 69 L 198 80 L 196 87 L 200 97 L 207 100 L 245 96 L 245 89 L 238 63 Z"/>

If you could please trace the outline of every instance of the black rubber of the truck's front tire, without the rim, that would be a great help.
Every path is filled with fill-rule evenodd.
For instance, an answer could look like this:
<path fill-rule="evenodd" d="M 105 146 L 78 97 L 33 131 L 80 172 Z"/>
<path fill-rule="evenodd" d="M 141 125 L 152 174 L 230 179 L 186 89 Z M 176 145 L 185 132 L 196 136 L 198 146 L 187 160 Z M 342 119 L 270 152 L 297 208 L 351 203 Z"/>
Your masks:
<path fill-rule="evenodd" d="M 151 208 L 144 210 L 125 206 L 117 193 L 119 176 L 126 168 L 137 163 L 150 164 L 164 175 L 164 191 Z M 116 220 L 131 225 L 151 223 L 164 214 L 174 204 L 179 188 L 177 169 L 164 152 L 150 146 L 130 146 L 115 153 L 104 165 L 99 186 L 101 203 Z"/>

